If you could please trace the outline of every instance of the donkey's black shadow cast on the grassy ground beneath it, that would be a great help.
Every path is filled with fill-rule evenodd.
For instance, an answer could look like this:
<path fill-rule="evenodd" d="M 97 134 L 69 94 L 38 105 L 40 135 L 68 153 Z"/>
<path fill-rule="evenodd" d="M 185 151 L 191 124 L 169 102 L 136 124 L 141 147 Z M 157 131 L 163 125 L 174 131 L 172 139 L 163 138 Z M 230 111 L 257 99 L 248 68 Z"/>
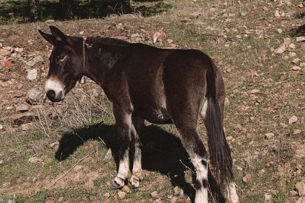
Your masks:
<path fill-rule="evenodd" d="M 185 180 L 184 172 L 186 166 L 194 171 L 190 163 L 189 156 L 178 139 L 173 134 L 162 128 L 151 125 L 144 127 L 139 136 L 143 144 L 142 148 L 142 168 L 147 171 L 157 171 L 170 178 L 172 185 L 181 187 L 192 202 L 195 198 L 195 189 Z M 87 140 L 98 140 L 106 144 L 112 151 L 112 156 L 118 168 L 118 145 L 114 125 L 96 124 L 85 128 L 74 129 L 71 132 L 64 132 L 59 140 L 59 147 L 55 153 L 57 160 L 65 160 L 79 146 Z M 182 164 L 183 163 L 183 164 Z M 130 164 L 132 166 L 132 162 Z M 195 183 L 195 174 L 193 175 Z M 209 171 L 209 186 L 214 199 L 218 202 L 225 202 L 220 187 Z"/>

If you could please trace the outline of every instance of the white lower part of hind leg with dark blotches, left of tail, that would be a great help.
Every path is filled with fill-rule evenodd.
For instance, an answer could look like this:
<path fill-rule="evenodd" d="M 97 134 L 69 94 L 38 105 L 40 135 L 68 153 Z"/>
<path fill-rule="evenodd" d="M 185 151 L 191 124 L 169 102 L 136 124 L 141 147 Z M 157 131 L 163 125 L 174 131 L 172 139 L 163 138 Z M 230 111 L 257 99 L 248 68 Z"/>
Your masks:
<path fill-rule="evenodd" d="M 191 158 L 193 165 L 196 168 L 196 196 L 195 203 L 208 203 L 207 194 L 207 160 L 195 155 Z"/>

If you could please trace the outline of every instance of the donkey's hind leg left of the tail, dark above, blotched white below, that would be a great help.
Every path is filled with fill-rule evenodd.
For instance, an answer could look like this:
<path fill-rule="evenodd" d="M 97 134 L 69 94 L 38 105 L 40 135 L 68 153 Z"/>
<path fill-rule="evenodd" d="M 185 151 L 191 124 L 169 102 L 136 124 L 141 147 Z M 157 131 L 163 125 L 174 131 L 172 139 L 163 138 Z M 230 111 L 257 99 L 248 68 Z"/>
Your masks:
<path fill-rule="evenodd" d="M 196 123 L 195 123 L 196 124 Z M 196 170 L 196 196 L 195 203 L 208 202 L 208 161 L 207 153 L 199 138 L 196 126 L 176 125 L 181 134 L 182 145 L 187 150 L 191 162 Z"/>

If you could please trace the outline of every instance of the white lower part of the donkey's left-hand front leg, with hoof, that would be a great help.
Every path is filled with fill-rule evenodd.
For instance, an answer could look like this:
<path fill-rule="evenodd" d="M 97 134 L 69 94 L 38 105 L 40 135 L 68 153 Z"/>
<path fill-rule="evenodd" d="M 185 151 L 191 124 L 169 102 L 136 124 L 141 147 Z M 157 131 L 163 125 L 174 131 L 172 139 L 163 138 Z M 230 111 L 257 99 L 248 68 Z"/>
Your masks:
<path fill-rule="evenodd" d="M 124 155 L 119 161 L 117 176 L 114 178 L 114 184 L 118 187 L 124 186 L 124 181 L 129 175 L 129 150 L 124 152 Z"/>

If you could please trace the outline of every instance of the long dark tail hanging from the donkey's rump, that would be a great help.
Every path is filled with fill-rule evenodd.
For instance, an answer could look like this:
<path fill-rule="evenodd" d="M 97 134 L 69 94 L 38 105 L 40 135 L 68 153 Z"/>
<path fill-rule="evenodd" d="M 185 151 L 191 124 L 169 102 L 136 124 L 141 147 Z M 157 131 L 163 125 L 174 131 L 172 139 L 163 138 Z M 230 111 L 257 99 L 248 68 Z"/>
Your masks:
<path fill-rule="evenodd" d="M 217 66 L 212 59 L 210 59 L 210 64 L 206 73 L 208 100 L 205 117 L 209 159 L 215 178 L 222 183 L 231 182 L 234 181 L 234 173 L 231 150 L 225 138 L 221 109 L 217 99 Z"/>

